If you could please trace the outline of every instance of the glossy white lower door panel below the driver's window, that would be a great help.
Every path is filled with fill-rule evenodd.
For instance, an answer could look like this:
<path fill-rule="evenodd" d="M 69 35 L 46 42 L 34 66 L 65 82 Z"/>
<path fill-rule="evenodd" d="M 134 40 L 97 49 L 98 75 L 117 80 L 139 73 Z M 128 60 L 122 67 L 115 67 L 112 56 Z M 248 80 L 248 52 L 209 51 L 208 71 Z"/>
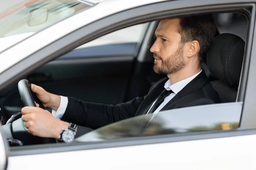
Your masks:
<path fill-rule="evenodd" d="M 9 157 L 8 170 L 255 169 L 256 135 Z M 244 147 L 241 147 L 244 145 Z M 70 157 L 70 155 L 73 155 Z M 161 156 L 160 156 L 161 155 Z M 28 164 L 27 161 L 33 162 Z M 42 160 L 45 163 L 42 164 Z M 60 165 L 57 162 L 68 162 Z M 101 161 L 99 163 L 99 161 Z M 128 162 L 129 161 L 129 162 Z M 46 163 L 47 162 L 47 163 Z M 72 163 L 71 163 L 72 162 Z M 73 164 L 73 162 L 76 162 Z M 78 163 L 81 162 L 81 163 Z"/>

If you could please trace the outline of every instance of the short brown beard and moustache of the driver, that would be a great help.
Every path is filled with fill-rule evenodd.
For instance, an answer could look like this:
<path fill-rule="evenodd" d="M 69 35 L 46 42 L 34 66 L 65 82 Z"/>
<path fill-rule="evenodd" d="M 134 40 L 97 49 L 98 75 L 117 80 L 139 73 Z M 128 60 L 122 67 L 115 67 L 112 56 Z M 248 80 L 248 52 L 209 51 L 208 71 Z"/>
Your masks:
<path fill-rule="evenodd" d="M 177 51 L 175 51 L 174 54 L 170 55 L 166 60 L 163 60 L 163 58 L 158 55 L 157 53 L 154 53 L 154 57 L 161 59 L 162 63 L 157 64 L 157 62 L 154 62 L 154 71 L 157 74 L 173 74 L 177 71 L 180 71 L 182 68 L 185 67 L 186 62 L 183 58 L 183 46 L 179 45 L 179 48 Z"/>

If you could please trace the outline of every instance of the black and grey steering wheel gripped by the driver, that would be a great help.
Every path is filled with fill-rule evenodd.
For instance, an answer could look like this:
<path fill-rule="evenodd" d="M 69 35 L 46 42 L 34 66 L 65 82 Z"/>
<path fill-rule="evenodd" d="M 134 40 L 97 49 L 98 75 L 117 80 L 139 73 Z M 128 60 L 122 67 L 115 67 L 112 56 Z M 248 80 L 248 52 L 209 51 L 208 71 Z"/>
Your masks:
<path fill-rule="evenodd" d="M 42 102 L 37 98 L 36 94 L 30 89 L 31 83 L 22 79 L 18 82 L 18 90 L 20 93 L 21 100 L 25 106 L 34 106 L 35 102 L 39 104 L 40 108 L 44 108 Z M 35 101 L 35 102 L 34 102 Z M 3 130 L 6 132 L 6 137 L 8 139 L 17 139 L 23 142 L 24 145 L 27 144 L 43 144 L 43 143 L 56 143 L 55 139 L 52 138 L 41 138 L 38 136 L 33 136 L 28 132 L 25 127 L 25 122 L 21 120 L 21 113 L 16 113 L 3 125 Z"/>

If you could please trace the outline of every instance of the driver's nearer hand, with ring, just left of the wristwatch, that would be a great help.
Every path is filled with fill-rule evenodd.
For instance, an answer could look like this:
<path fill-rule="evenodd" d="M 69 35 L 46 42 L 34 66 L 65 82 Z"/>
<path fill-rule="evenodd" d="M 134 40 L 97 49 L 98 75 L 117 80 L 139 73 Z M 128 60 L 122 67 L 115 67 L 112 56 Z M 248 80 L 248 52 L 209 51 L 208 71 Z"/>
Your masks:
<path fill-rule="evenodd" d="M 25 127 L 35 136 L 58 139 L 62 128 L 69 125 L 67 122 L 56 119 L 49 111 L 38 107 L 26 106 L 22 108 L 21 113 Z"/>

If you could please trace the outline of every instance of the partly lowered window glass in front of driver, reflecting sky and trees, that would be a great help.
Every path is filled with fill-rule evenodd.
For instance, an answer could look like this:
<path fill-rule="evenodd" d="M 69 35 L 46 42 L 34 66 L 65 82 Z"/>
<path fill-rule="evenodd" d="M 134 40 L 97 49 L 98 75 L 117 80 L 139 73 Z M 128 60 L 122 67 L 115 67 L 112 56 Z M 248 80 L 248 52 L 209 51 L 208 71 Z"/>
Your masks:
<path fill-rule="evenodd" d="M 91 142 L 174 133 L 230 130 L 239 127 L 242 102 L 179 108 L 137 116 L 101 127 L 78 137 L 76 142 Z"/>

